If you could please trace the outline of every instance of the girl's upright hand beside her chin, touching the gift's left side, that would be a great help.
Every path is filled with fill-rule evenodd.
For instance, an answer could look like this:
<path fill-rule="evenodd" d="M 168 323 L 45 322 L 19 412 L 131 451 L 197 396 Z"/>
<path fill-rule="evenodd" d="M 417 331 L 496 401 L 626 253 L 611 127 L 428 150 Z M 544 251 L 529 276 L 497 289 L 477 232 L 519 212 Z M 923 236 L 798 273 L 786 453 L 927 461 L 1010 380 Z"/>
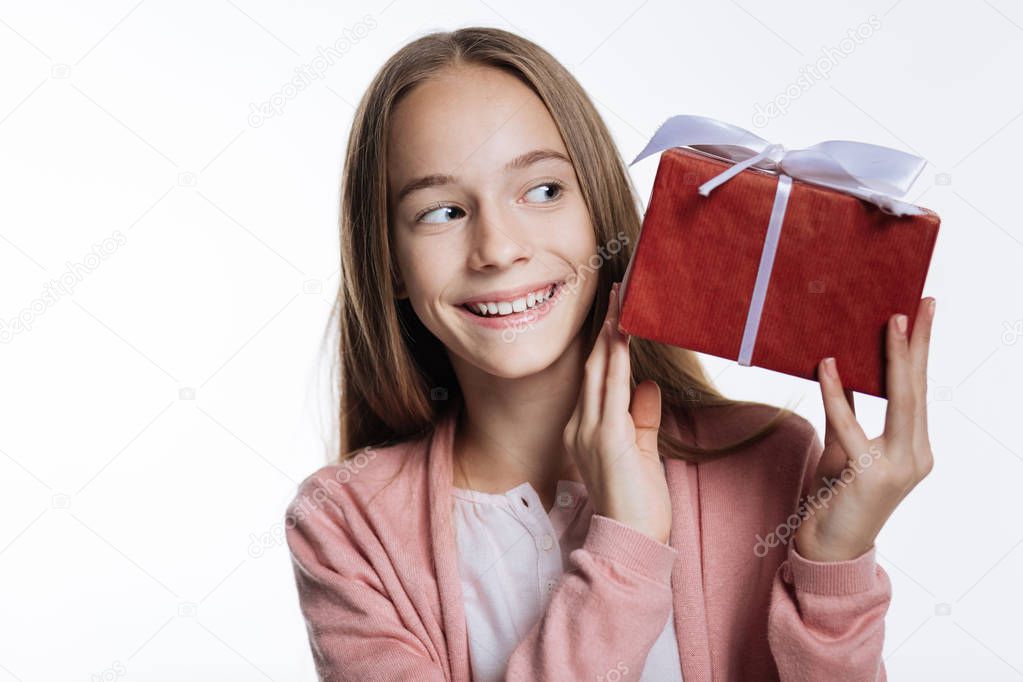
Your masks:
<path fill-rule="evenodd" d="M 618 312 L 616 283 L 564 443 L 595 513 L 667 543 L 671 499 L 657 448 L 661 389 L 656 381 L 642 381 L 630 404 L 629 336 L 618 331 Z"/>

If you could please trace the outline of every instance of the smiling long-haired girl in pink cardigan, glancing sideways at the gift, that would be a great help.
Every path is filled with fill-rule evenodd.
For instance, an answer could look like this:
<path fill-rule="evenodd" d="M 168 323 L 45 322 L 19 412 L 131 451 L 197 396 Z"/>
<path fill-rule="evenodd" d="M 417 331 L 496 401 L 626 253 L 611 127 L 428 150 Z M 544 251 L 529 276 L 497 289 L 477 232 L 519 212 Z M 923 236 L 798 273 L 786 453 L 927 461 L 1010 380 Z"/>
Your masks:
<path fill-rule="evenodd" d="M 388 60 L 343 183 L 343 454 L 286 517 L 321 679 L 885 679 L 874 539 L 931 468 L 933 299 L 889 322 L 875 439 L 830 359 L 821 445 L 627 338 L 627 170 L 496 29 Z"/>

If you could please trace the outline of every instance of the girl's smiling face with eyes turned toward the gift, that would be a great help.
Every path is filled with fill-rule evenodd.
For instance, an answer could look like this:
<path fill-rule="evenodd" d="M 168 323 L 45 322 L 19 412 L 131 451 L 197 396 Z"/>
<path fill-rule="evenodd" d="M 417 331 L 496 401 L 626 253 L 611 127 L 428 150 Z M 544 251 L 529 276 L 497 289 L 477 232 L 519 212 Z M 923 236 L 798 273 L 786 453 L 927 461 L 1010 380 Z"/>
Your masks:
<path fill-rule="evenodd" d="M 540 99 L 497 69 L 445 70 L 396 107 L 388 150 L 401 295 L 424 325 L 496 376 L 562 357 L 595 295 L 596 239 Z"/>

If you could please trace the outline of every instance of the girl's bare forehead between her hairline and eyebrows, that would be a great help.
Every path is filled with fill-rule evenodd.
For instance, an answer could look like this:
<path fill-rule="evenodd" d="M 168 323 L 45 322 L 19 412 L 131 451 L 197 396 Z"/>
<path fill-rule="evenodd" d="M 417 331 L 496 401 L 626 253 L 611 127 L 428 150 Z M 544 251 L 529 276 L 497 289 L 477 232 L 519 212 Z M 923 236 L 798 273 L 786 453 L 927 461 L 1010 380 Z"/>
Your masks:
<path fill-rule="evenodd" d="M 568 155 L 540 98 L 516 77 L 488 66 L 447 69 L 416 86 L 392 113 L 387 146 L 392 192 L 420 175 L 500 172 L 535 148 Z"/>

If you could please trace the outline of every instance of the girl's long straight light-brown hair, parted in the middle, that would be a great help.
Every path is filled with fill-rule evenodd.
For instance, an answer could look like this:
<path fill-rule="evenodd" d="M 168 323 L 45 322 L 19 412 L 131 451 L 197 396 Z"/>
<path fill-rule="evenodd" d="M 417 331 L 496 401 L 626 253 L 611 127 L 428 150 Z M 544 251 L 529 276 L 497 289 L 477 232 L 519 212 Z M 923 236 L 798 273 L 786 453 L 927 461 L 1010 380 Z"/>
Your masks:
<path fill-rule="evenodd" d="M 604 121 L 575 78 L 548 52 L 516 34 L 493 28 L 433 33 L 406 44 L 376 73 L 359 101 L 345 156 L 341 190 L 341 279 L 330 325 L 338 320 L 340 388 L 338 461 L 365 447 L 383 447 L 428 434 L 460 400 L 440 340 L 419 321 L 408 299 L 399 300 L 400 276 L 392 257 L 387 185 L 387 139 L 395 106 L 416 85 L 443 69 L 485 65 L 526 84 L 550 112 L 575 166 L 598 244 L 627 239 L 597 269 L 597 293 L 582 333 L 592 348 L 611 285 L 625 274 L 639 236 L 642 206 Z M 654 379 L 662 415 L 671 410 L 693 424 L 697 409 L 728 408 L 748 401 L 725 398 L 692 351 L 639 337 L 630 344 L 631 387 Z M 765 438 L 791 414 L 771 418 L 741 440 L 717 448 L 691 446 L 662 428 L 663 456 L 706 460 Z M 662 419 L 662 424 L 664 423 Z"/>

